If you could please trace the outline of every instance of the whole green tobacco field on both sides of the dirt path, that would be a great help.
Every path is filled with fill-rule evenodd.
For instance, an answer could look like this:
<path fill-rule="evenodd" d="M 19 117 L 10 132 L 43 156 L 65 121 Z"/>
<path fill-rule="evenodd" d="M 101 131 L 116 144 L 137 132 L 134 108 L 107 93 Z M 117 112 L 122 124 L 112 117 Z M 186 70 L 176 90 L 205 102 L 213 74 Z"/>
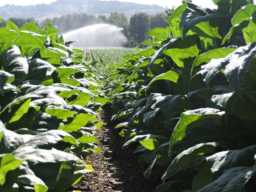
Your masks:
<path fill-rule="evenodd" d="M 140 50 L 0 28 L 0 191 L 64 192 L 93 172 L 103 105 L 152 191 L 255 191 L 256 5 L 212 1 L 177 7 Z"/>

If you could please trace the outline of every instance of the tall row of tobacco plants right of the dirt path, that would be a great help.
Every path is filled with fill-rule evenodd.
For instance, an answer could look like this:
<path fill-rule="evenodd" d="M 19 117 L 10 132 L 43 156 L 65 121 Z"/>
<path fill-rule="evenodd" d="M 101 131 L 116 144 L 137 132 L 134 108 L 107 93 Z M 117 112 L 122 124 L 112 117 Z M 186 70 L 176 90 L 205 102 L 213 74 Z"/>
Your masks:
<path fill-rule="evenodd" d="M 110 67 L 107 93 L 155 192 L 255 191 L 256 5 L 186 2 L 147 48 Z"/>

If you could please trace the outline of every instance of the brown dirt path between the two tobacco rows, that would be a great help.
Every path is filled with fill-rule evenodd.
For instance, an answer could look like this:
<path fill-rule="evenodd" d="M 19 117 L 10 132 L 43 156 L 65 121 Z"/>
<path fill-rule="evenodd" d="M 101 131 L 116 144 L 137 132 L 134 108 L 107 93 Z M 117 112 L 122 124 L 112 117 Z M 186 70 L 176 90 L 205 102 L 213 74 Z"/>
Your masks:
<path fill-rule="evenodd" d="M 103 106 L 100 117 L 106 124 L 97 130 L 97 145 L 102 153 L 91 155 L 94 172 L 85 174 L 69 190 L 91 192 L 152 192 L 156 187 L 143 176 L 144 169 L 138 164 L 139 154 L 132 154 L 136 144 L 122 149 L 124 138 L 114 129 L 117 122 L 111 122 L 111 107 Z"/>

